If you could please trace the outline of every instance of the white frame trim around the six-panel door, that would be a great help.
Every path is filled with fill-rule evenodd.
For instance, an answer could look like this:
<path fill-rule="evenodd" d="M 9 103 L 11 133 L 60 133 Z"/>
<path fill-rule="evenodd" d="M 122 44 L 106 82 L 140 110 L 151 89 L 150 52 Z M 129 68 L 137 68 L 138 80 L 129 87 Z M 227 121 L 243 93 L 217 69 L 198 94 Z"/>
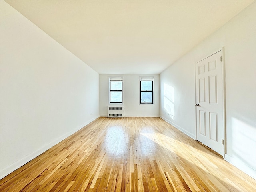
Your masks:
<path fill-rule="evenodd" d="M 197 92 L 196 92 L 196 64 L 214 54 L 216 54 L 217 52 L 222 53 L 222 99 L 223 99 L 223 103 L 222 103 L 222 112 L 223 112 L 223 131 L 224 131 L 224 150 L 223 150 L 223 158 L 225 158 L 225 154 L 227 152 L 227 136 L 226 136 L 226 72 L 225 72 L 225 57 L 224 57 L 224 47 L 216 50 L 215 52 L 213 52 L 212 54 L 209 54 L 208 56 L 205 56 L 204 58 L 198 60 L 197 62 L 195 62 L 195 104 L 196 103 L 196 96 L 197 96 Z M 195 106 L 195 120 L 197 120 L 197 114 L 196 114 L 196 106 Z M 197 140 L 197 122 L 196 122 L 196 134 L 195 134 L 195 140 Z"/>

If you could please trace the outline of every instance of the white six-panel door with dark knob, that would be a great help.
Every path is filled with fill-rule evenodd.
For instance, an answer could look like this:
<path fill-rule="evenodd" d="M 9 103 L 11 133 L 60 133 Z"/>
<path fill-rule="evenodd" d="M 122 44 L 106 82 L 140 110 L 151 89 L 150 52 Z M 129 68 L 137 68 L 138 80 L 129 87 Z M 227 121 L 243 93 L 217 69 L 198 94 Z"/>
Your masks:
<path fill-rule="evenodd" d="M 196 63 L 197 140 L 224 156 L 222 51 Z"/>

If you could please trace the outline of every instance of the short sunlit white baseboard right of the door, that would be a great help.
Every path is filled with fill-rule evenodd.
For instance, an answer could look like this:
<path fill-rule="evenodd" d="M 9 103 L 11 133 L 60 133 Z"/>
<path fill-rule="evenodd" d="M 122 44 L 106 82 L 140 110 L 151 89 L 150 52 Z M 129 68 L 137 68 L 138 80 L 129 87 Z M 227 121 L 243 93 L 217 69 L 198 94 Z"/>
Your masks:
<path fill-rule="evenodd" d="M 256 170 L 244 164 L 242 160 L 229 156 L 228 154 L 225 154 L 224 159 L 256 180 Z"/>

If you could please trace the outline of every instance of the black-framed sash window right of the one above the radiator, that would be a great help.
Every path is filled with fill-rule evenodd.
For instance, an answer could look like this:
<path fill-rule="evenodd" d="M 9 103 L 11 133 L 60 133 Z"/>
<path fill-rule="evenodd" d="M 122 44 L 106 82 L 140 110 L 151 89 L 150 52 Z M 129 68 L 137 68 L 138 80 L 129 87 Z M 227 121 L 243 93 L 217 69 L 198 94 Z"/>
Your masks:
<path fill-rule="evenodd" d="M 140 103 L 153 104 L 154 77 L 140 77 Z"/>

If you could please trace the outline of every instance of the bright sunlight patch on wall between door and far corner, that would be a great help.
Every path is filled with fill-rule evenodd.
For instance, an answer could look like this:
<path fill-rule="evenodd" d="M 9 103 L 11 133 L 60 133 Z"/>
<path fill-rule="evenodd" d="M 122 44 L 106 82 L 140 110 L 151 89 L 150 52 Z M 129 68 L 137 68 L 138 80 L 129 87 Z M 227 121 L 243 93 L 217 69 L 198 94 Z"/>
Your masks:
<path fill-rule="evenodd" d="M 164 84 L 164 110 L 175 121 L 174 88 L 167 84 Z"/>

